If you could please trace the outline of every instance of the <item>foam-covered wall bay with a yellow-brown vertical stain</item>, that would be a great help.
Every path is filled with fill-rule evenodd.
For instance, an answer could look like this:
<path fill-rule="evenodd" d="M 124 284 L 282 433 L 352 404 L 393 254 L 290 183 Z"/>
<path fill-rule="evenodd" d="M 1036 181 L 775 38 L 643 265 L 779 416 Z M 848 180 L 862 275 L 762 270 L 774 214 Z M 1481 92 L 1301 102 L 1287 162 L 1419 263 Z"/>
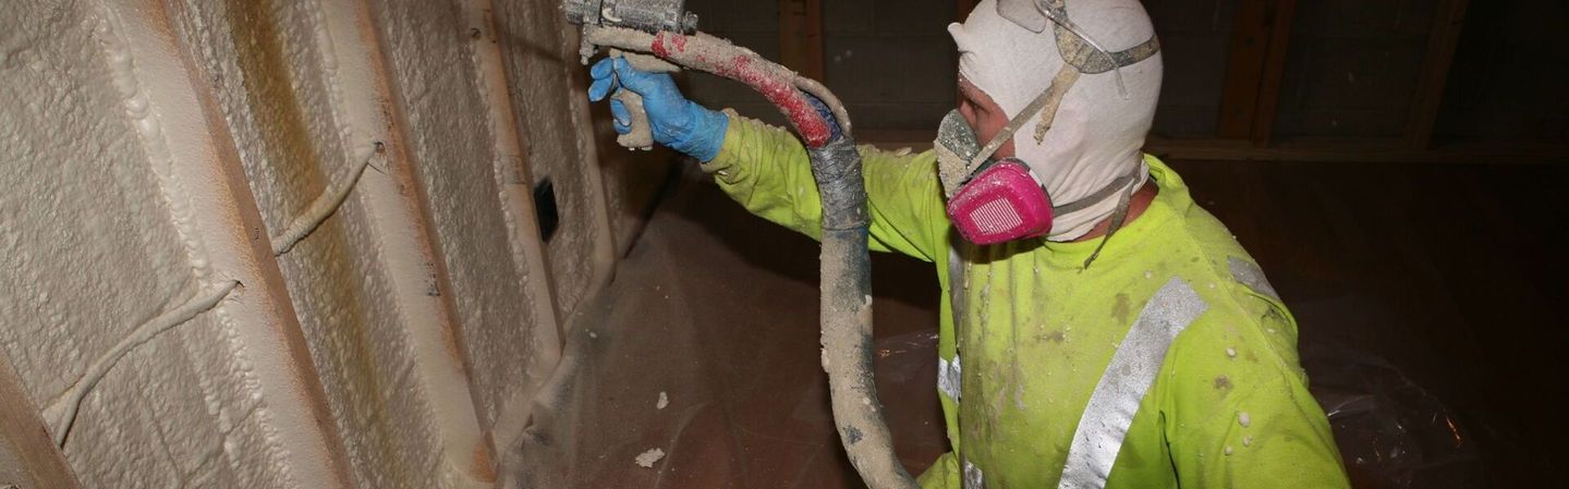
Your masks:
<path fill-rule="evenodd" d="M 348 119 L 342 97 L 369 86 L 334 60 L 356 39 L 333 39 L 315 2 L 188 2 L 184 11 L 193 27 L 188 44 L 207 47 L 201 69 L 220 80 L 224 122 L 267 234 L 278 235 L 317 196 L 347 185 L 359 163 L 355 146 L 370 144 L 375 129 Z M 389 248 L 417 235 L 405 223 L 375 223 L 377 202 L 367 194 L 388 179 L 364 176 L 334 216 L 278 263 L 356 484 L 446 487 L 442 470 L 431 470 L 447 467 L 444 434 L 428 386 L 411 375 L 428 360 L 416 354 L 411 329 L 446 317 L 420 313 L 427 299 L 399 290 L 397 274 L 420 271 L 397 263 Z M 400 232 L 384 232 L 389 226 Z"/>

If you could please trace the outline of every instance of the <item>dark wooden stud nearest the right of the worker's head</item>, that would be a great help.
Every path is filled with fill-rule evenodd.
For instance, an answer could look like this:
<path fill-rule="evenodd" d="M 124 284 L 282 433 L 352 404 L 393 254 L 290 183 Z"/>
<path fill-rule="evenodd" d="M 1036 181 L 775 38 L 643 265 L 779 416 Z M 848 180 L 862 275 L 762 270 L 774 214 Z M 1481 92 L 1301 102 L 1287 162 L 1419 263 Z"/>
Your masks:
<path fill-rule="evenodd" d="M 1221 91 L 1218 136 L 1269 146 L 1294 13 L 1296 0 L 1244 0 L 1238 5 L 1236 33 L 1232 34 Z"/>

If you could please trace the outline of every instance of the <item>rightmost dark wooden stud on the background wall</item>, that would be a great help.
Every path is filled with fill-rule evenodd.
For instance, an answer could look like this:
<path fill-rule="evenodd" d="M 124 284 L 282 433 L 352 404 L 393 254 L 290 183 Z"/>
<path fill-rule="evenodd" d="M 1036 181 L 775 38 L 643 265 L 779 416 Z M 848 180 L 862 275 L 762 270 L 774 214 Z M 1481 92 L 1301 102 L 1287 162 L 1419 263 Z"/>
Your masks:
<path fill-rule="evenodd" d="M 1406 124 L 1406 144 L 1412 149 L 1432 146 L 1432 127 L 1443 105 L 1443 88 L 1454 63 L 1454 49 L 1465 27 L 1469 0 L 1442 0 L 1432 17 L 1432 33 L 1428 34 L 1428 55 L 1422 61 L 1417 78 L 1417 96 L 1411 100 L 1411 121 Z"/>

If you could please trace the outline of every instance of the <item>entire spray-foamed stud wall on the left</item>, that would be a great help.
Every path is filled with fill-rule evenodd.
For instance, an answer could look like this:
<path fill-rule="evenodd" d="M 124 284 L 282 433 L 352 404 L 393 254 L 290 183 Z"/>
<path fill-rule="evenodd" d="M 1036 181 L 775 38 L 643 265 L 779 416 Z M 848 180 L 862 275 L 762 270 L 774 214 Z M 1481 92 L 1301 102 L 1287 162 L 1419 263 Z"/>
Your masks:
<path fill-rule="evenodd" d="M 493 486 L 665 176 L 584 78 L 548 0 L 0 3 L 0 486 Z"/>

